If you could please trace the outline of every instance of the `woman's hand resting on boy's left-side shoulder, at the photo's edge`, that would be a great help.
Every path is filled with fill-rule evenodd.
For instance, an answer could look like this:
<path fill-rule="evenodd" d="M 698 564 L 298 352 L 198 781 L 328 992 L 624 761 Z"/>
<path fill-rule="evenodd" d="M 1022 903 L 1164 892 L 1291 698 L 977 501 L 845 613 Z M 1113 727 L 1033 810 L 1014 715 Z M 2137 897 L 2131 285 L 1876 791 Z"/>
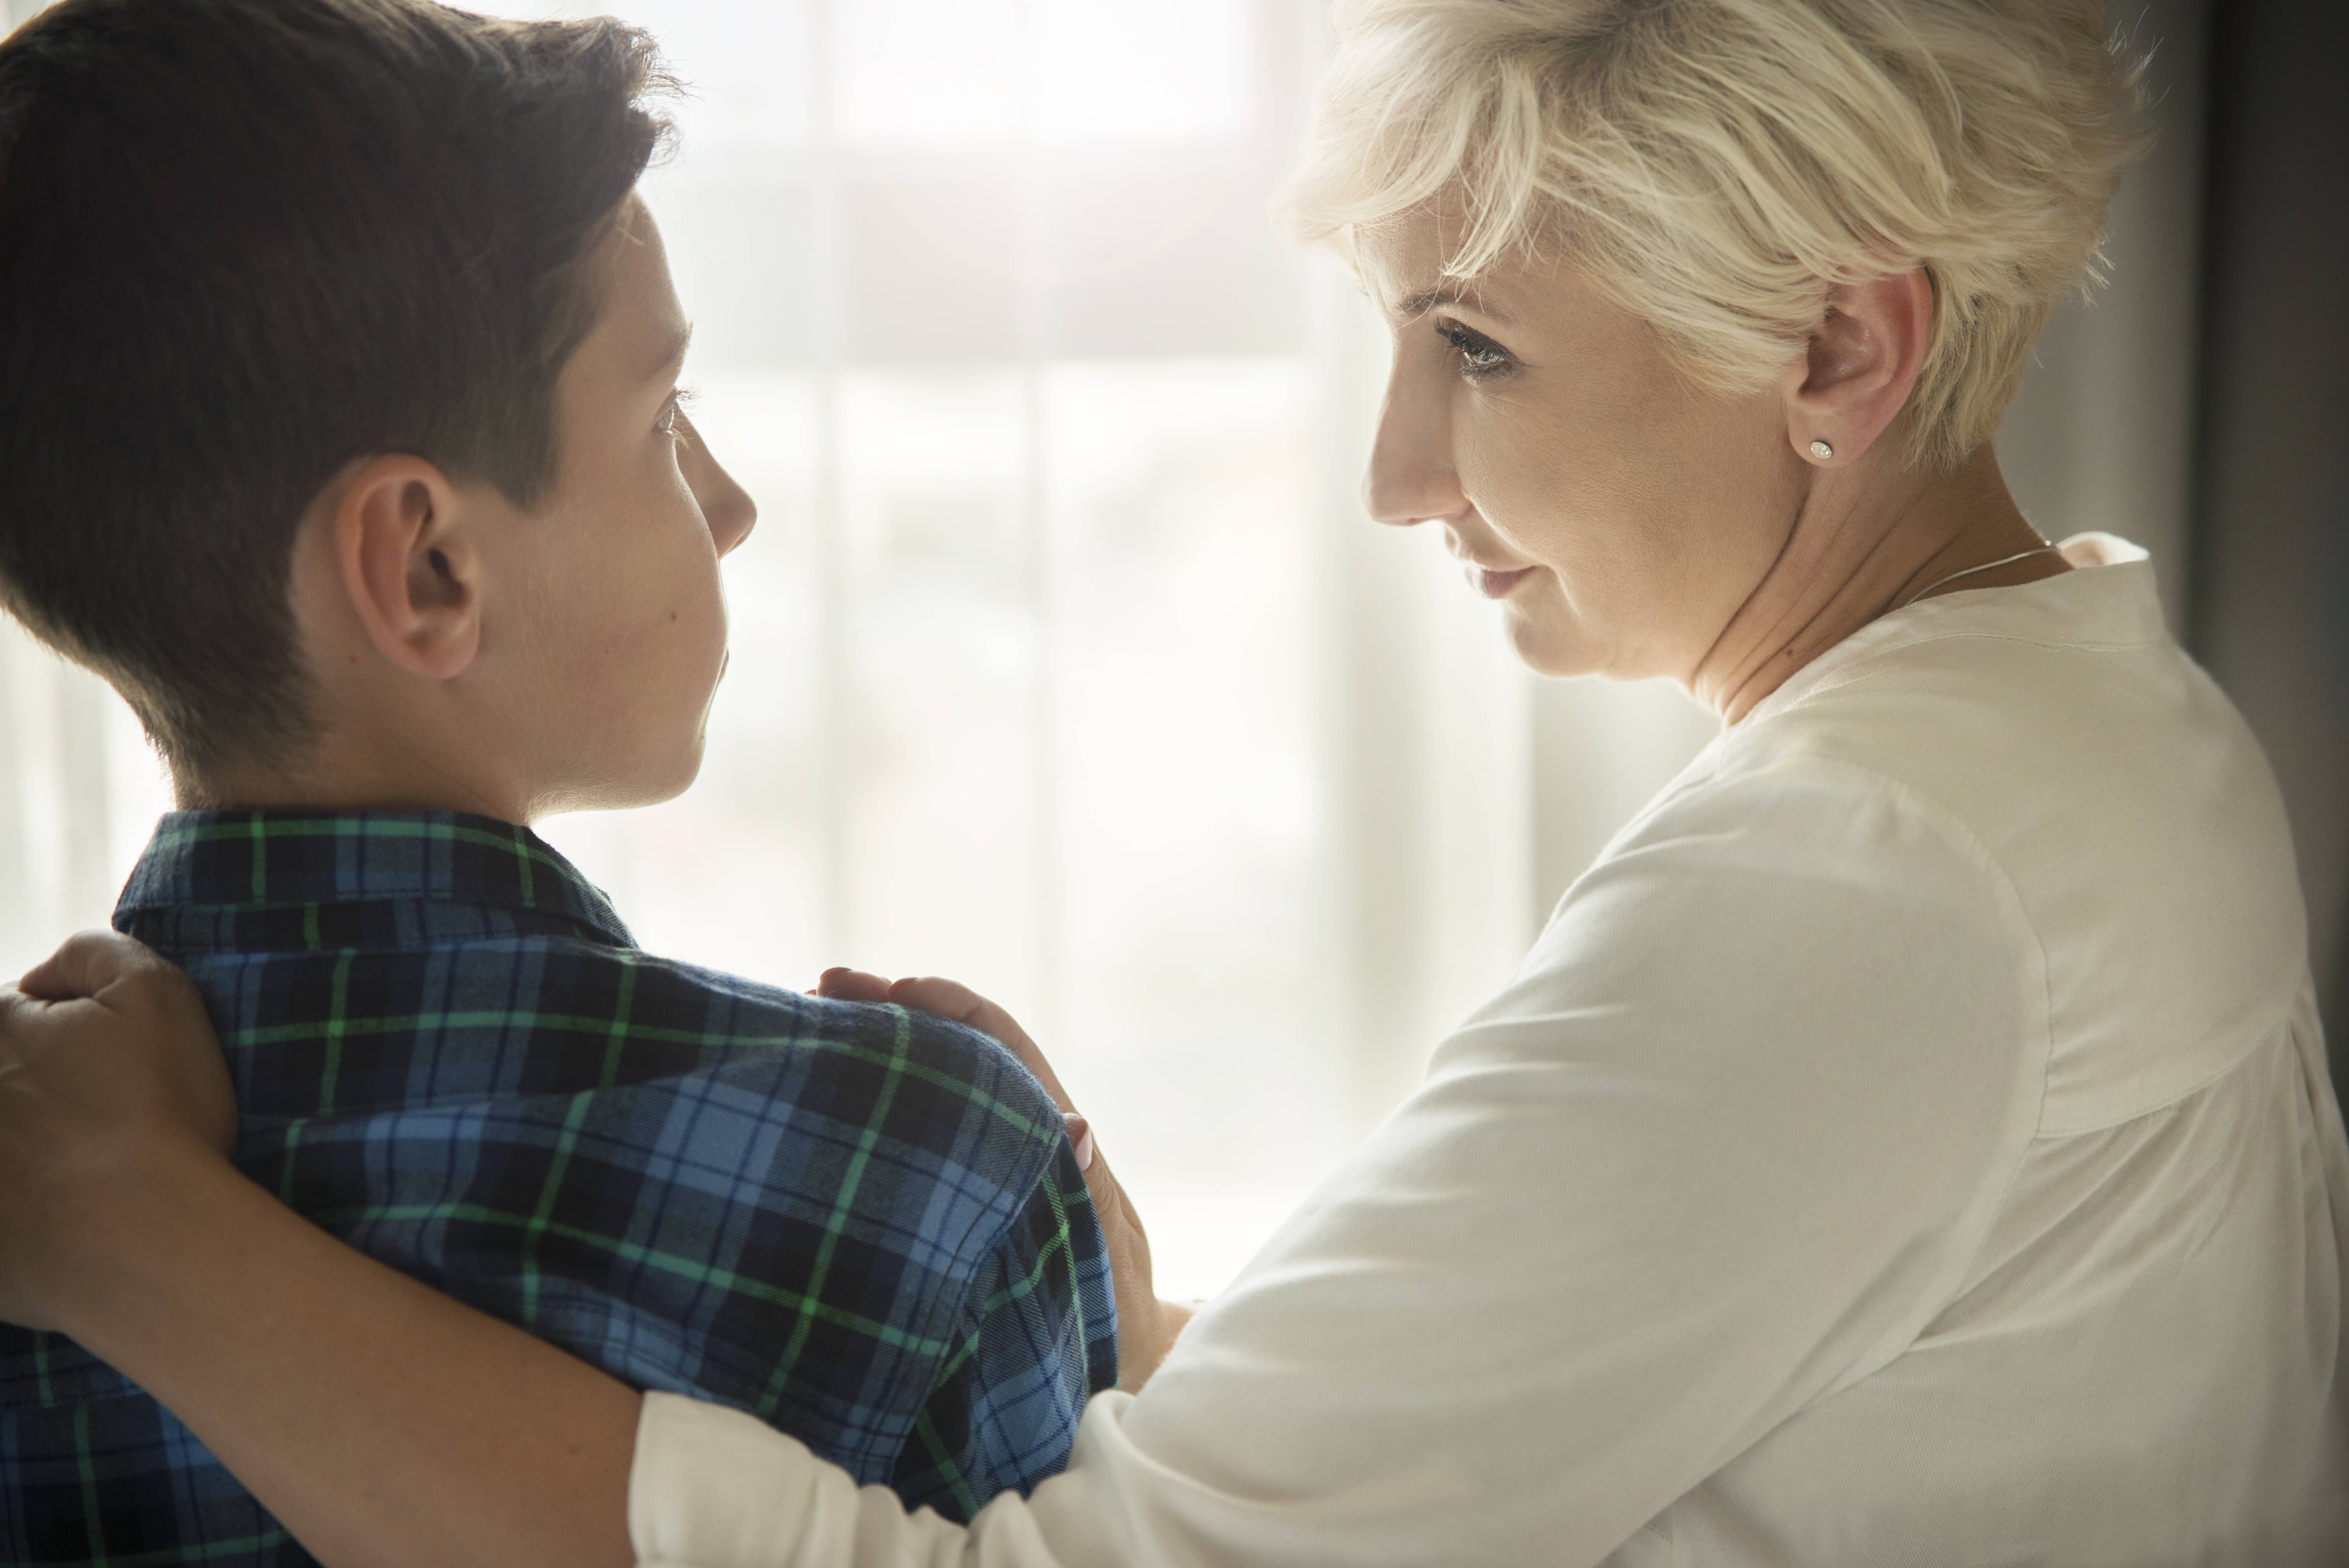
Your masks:
<path fill-rule="evenodd" d="M 235 1134 L 204 1002 L 141 944 L 82 932 L 0 991 L 0 1319 L 66 1326 L 75 1263 Z"/>

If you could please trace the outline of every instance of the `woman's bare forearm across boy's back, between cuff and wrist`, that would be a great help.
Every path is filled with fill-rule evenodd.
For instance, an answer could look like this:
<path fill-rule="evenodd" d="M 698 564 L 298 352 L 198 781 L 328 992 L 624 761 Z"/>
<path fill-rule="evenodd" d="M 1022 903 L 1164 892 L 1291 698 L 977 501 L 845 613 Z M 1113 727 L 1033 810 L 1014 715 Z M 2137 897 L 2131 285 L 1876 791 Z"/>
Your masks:
<path fill-rule="evenodd" d="M 96 1192 L 56 1322 L 329 1568 L 625 1568 L 639 1397 L 223 1160 Z"/>

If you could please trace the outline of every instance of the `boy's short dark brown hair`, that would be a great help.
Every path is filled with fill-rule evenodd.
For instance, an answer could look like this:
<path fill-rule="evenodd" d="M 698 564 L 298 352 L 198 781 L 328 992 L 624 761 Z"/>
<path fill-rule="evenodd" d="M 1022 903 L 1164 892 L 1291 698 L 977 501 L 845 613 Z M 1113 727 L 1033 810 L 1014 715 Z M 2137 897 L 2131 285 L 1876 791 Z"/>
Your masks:
<path fill-rule="evenodd" d="M 428 0 L 63 0 L 0 45 L 0 596 L 174 770 L 312 723 L 294 533 L 350 460 L 517 505 L 651 40 Z"/>

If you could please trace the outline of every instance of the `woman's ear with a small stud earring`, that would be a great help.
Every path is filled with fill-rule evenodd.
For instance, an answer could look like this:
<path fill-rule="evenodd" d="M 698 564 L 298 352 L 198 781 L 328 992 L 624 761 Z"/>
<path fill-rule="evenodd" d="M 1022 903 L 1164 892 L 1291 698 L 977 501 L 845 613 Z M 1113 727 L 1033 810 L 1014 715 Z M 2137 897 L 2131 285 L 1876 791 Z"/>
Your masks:
<path fill-rule="evenodd" d="M 1910 268 L 1828 291 L 1828 315 L 1788 366 L 1785 437 L 1816 467 L 1844 467 L 1907 408 L 1933 340 L 1933 282 Z"/>

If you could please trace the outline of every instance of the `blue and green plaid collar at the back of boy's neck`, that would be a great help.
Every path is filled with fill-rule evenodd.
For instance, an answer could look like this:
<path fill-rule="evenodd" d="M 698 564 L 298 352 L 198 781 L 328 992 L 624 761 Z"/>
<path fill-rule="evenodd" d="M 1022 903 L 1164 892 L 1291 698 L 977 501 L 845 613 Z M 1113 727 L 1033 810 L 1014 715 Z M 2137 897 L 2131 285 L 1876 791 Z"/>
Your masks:
<path fill-rule="evenodd" d="M 115 904 L 233 911 L 425 899 L 561 915 L 634 946 L 611 899 L 538 833 L 465 812 L 169 812 Z"/>

